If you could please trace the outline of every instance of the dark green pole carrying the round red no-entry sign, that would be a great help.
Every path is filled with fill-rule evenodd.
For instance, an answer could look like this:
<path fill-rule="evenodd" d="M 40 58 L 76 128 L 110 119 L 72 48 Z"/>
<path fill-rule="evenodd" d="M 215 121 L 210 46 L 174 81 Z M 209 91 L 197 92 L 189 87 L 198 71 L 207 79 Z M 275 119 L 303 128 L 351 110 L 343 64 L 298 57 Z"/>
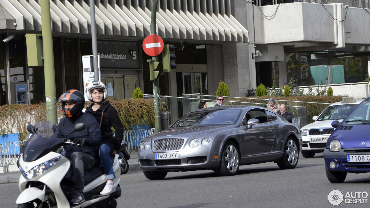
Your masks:
<path fill-rule="evenodd" d="M 157 6 L 158 0 L 153 0 L 152 5 L 152 16 L 150 21 L 150 34 L 156 34 L 155 28 L 157 20 Z M 158 57 L 152 57 L 152 60 L 158 61 Z M 153 81 L 153 90 L 154 90 L 154 117 L 155 117 L 155 132 L 158 133 L 162 131 L 161 123 L 161 100 L 159 98 L 159 77 Z"/>

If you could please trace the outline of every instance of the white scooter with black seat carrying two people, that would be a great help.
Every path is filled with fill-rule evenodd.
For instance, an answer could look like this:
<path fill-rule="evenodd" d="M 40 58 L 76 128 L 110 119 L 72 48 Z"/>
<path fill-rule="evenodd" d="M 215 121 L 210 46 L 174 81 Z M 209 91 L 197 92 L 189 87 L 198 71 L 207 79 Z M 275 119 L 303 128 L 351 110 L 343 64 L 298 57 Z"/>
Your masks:
<path fill-rule="evenodd" d="M 84 174 L 84 197 L 81 204 L 70 204 L 74 194 L 74 178 L 71 162 L 58 148 L 66 143 L 66 139 L 52 137 L 56 124 L 51 121 L 40 121 L 27 126 L 33 135 L 23 147 L 19 159 L 19 189 L 21 191 L 16 203 L 18 208 L 116 208 L 115 199 L 121 196 L 120 164 L 115 155 L 113 171 L 115 174 L 115 191 L 110 195 L 100 195 L 107 181 L 102 167 L 94 167 Z M 81 131 L 85 125 L 77 123 L 73 131 Z M 66 137 L 65 135 L 64 137 Z"/>

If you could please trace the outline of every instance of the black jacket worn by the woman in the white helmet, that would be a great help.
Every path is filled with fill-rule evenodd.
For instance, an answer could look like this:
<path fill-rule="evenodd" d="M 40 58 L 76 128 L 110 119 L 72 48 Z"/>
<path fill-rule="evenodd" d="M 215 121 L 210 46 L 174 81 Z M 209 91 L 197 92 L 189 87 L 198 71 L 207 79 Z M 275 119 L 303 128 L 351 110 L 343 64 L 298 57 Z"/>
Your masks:
<path fill-rule="evenodd" d="M 107 102 L 105 102 L 97 111 L 92 110 L 92 105 L 93 104 L 86 108 L 85 113 L 94 116 L 99 124 L 101 114 L 104 111 L 100 127 L 102 144 L 107 144 L 111 148 L 111 153 L 113 150 L 120 150 L 123 138 L 123 126 L 117 111 Z M 115 129 L 115 137 L 113 136 L 112 126 Z"/>

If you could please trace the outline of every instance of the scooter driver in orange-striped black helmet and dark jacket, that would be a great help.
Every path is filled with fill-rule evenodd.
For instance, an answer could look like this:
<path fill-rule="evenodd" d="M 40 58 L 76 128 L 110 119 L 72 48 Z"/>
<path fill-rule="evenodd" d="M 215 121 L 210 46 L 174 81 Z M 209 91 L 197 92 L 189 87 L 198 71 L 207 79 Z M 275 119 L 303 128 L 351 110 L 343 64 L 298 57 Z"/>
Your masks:
<path fill-rule="evenodd" d="M 90 170 L 100 161 L 95 147 L 101 144 L 101 132 L 94 117 L 82 112 L 85 105 L 83 93 L 78 90 L 68 90 L 59 97 L 58 103 L 62 104 L 62 112 L 65 116 L 61 118 L 57 127 L 58 137 L 71 132 L 75 123 L 85 124 L 83 131 L 76 131 L 67 136 L 67 139 L 74 144 L 64 145 L 65 156 L 71 160 L 75 176 L 74 195 L 70 202 L 80 204 L 85 201 L 84 171 Z"/>

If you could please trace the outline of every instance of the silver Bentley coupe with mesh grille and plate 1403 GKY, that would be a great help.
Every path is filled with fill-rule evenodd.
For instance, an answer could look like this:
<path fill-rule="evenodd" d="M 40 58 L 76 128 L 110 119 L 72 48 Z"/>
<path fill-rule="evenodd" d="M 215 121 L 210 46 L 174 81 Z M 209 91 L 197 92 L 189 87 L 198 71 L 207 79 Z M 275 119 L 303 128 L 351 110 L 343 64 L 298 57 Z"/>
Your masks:
<path fill-rule="evenodd" d="M 145 137 L 138 160 L 145 177 L 160 180 L 169 171 L 213 170 L 235 175 L 240 165 L 276 162 L 295 168 L 299 128 L 267 108 L 226 105 L 185 114 L 164 131 Z"/>

